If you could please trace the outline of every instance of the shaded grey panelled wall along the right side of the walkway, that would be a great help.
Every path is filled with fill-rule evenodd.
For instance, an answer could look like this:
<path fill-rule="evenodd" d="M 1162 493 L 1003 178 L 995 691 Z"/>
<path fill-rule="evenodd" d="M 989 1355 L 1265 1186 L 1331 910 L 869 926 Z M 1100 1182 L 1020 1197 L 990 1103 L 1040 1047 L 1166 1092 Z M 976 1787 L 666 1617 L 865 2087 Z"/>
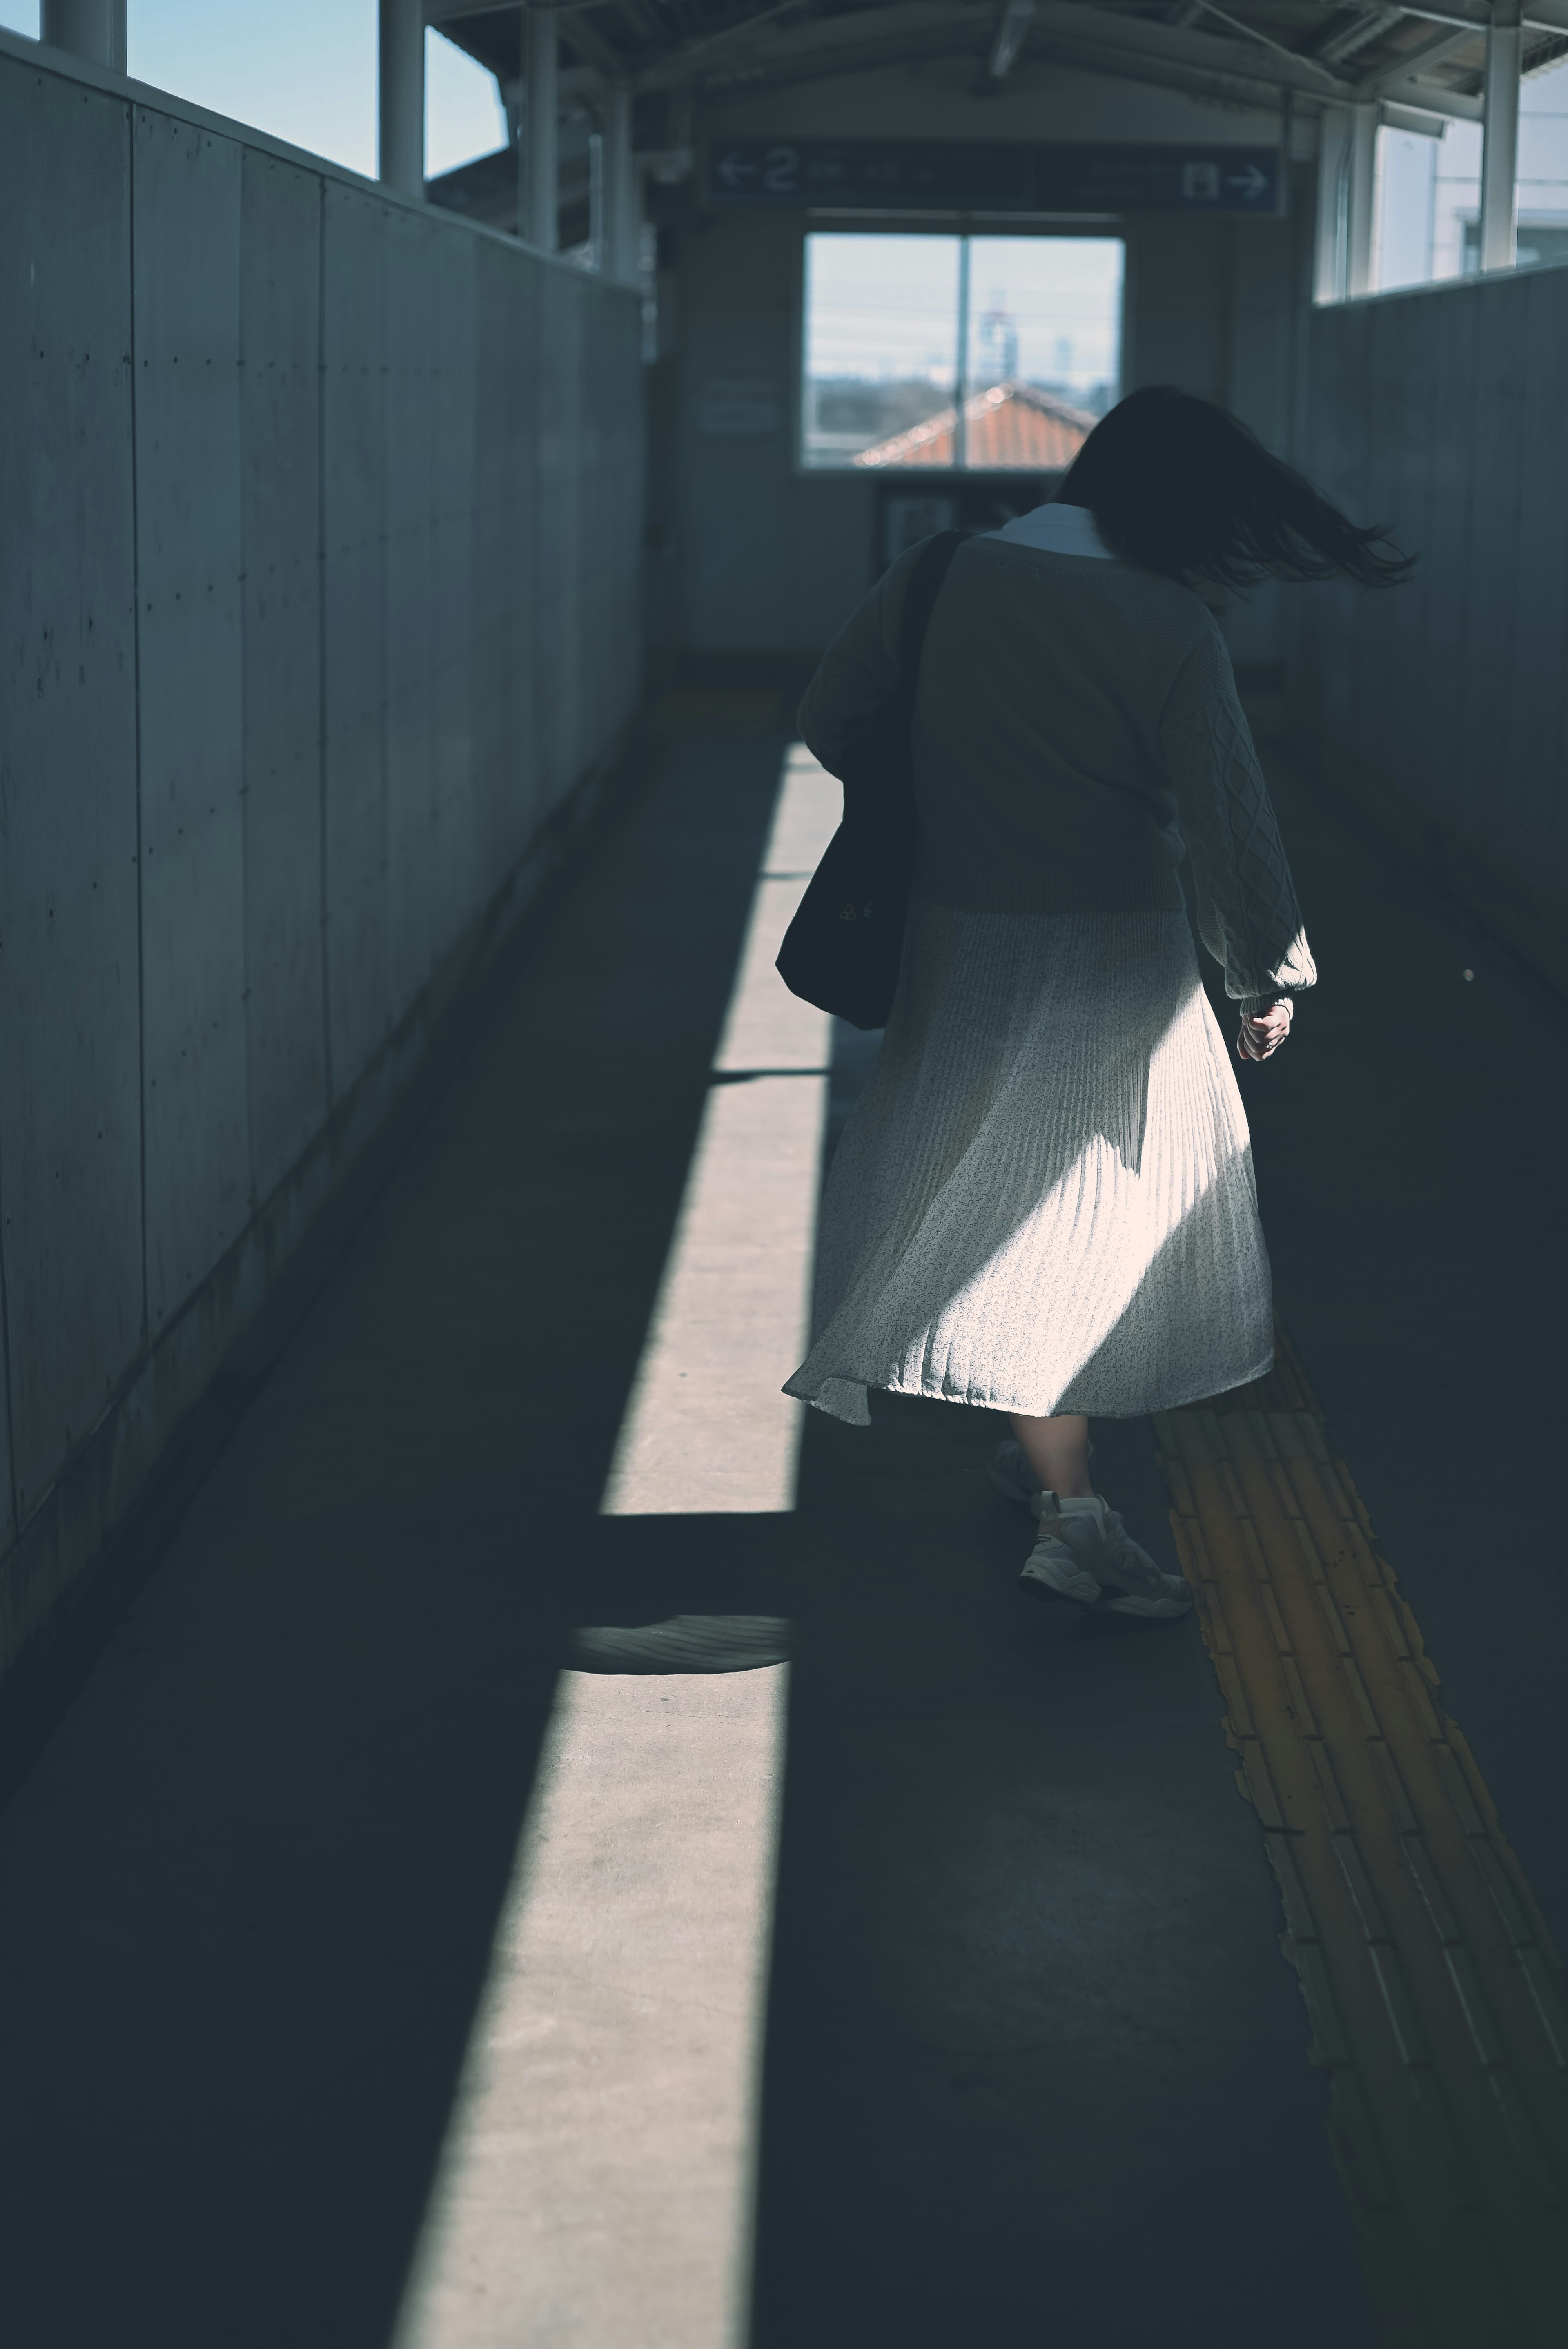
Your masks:
<path fill-rule="evenodd" d="M 1559 989 L 1568 911 L 1568 270 L 1319 310 L 1305 456 L 1420 552 L 1296 597 L 1291 705 L 1324 787 Z"/>

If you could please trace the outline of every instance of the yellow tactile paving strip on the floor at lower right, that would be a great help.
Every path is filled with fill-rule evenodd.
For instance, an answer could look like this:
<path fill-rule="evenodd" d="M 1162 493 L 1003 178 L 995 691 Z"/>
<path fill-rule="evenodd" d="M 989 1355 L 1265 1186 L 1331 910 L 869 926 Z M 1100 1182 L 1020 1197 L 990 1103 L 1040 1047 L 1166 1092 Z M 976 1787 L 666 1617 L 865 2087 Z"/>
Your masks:
<path fill-rule="evenodd" d="M 1385 2337 L 1561 2349 L 1561 1964 L 1420 1628 L 1284 1344 L 1157 1428 Z"/>

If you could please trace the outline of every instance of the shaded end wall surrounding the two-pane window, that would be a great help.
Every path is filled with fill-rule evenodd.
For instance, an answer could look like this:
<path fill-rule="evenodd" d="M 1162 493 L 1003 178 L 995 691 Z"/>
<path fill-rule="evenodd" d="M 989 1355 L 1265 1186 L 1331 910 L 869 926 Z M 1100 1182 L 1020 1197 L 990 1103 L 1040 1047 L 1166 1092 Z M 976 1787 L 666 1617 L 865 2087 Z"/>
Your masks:
<path fill-rule="evenodd" d="M 998 96 L 976 94 L 972 59 L 709 99 L 697 110 L 697 176 L 653 190 L 662 221 L 662 357 L 653 388 L 653 644 L 678 658 L 812 653 L 876 578 L 876 482 L 803 472 L 798 446 L 805 211 L 707 204 L 714 139 L 1211 141 L 1275 146 L 1282 120 L 1207 106 L 1145 82 L 1023 63 Z M 1312 127 L 1300 124 L 1307 157 Z M 840 216 L 831 226 L 857 226 Z M 897 226 L 864 221 L 866 228 Z M 941 228 L 941 221 L 920 221 Z M 951 223 L 958 226 L 958 223 Z M 993 226 L 993 223 L 986 223 Z M 1312 167 L 1296 169 L 1291 216 L 1141 214 L 1127 237 L 1124 385 L 1181 383 L 1221 399 L 1277 449 L 1293 437 L 1293 381 L 1307 301 Z M 702 385 L 744 376 L 777 385 L 779 430 L 702 430 Z M 1042 482 L 1042 491 L 1045 491 Z M 1230 615 L 1239 660 L 1284 651 L 1272 594 Z"/>

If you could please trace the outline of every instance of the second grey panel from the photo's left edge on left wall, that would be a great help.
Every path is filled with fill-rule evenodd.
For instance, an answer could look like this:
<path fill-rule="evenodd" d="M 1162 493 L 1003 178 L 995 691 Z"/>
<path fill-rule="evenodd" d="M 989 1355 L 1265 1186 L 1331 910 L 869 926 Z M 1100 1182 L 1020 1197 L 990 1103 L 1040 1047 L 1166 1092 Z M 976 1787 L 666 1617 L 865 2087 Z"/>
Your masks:
<path fill-rule="evenodd" d="M 148 1332 L 251 1212 L 239 148 L 131 113 Z"/>

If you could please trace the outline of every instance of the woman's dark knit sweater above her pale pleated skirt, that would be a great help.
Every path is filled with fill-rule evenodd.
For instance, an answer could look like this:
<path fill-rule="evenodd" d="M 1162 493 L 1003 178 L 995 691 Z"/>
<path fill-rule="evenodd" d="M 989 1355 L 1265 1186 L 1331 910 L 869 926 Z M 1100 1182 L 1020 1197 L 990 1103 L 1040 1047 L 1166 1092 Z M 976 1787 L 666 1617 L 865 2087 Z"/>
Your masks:
<path fill-rule="evenodd" d="M 911 547 L 833 639 L 800 733 L 840 770 L 897 686 Z M 1188 587 L 1110 557 L 1082 507 L 969 538 L 937 599 L 913 721 L 913 895 L 981 914 L 1181 907 L 1244 1008 L 1317 970 L 1225 639 Z"/>

